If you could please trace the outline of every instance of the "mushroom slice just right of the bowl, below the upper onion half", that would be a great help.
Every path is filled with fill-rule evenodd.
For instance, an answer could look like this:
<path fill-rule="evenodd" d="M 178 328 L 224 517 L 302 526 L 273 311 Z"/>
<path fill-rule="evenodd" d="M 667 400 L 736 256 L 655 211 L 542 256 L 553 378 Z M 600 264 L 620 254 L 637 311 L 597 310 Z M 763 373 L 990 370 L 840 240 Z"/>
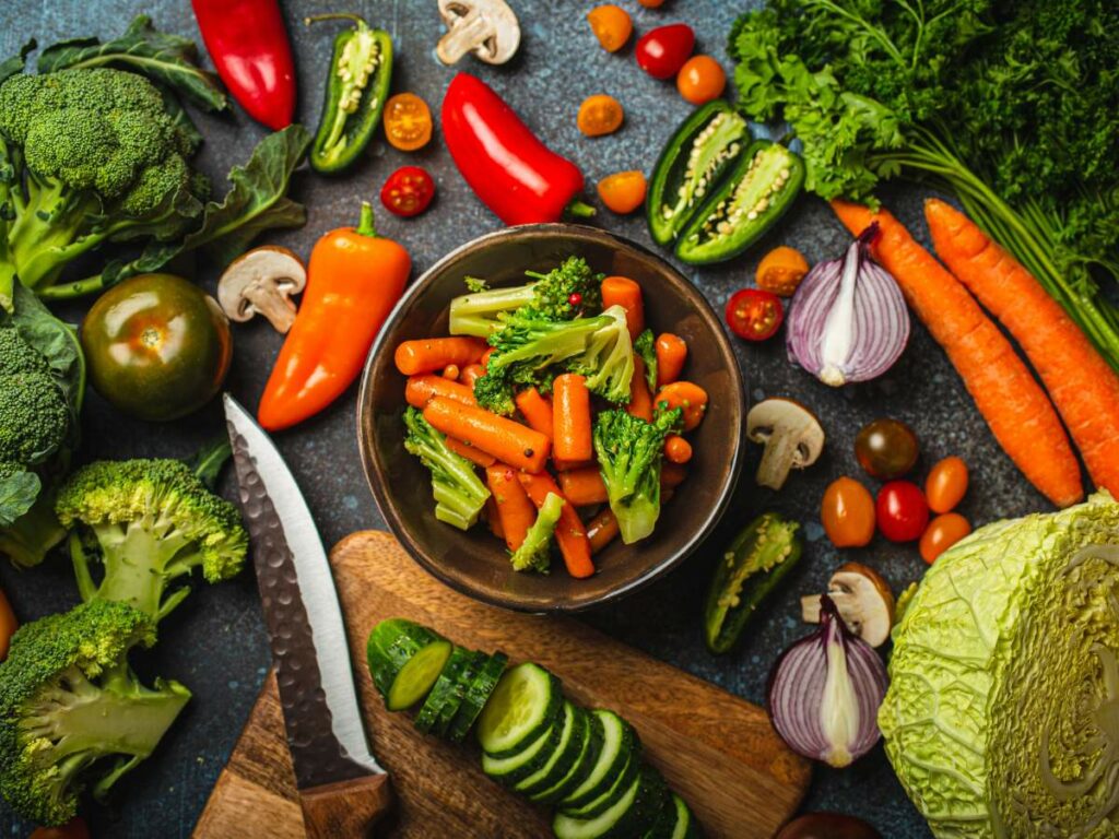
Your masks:
<path fill-rule="evenodd" d="M 746 414 L 746 436 L 762 443 L 758 483 L 781 489 L 791 469 L 812 465 L 824 451 L 824 427 L 811 411 L 792 399 L 765 399 Z"/>

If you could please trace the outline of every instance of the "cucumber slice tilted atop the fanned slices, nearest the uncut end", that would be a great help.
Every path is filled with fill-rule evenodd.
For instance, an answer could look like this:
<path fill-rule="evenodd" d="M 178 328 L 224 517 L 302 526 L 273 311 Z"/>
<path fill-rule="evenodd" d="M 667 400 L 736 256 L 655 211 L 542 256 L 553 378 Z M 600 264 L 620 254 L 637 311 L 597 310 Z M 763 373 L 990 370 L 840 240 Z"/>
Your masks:
<path fill-rule="evenodd" d="M 526 661 L 507 670 L 478 718 L 478 743 L 491 757 L 511 757 L 552 727 L 563 708 L 560 679 Z"/>

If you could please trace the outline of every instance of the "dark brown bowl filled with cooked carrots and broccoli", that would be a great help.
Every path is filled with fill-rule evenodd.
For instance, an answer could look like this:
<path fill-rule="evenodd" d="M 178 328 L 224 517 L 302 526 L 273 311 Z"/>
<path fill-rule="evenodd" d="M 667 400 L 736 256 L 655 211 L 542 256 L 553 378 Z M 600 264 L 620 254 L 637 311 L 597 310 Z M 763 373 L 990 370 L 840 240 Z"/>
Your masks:
<path fill-rule="evenodd" d="M 674 267 L 603 230 L 527 225 L 408 290 L 369 356 L 358 437 L 424 568 L 500 606 L 573 611 L 711 532 L 743 411 L 718 318 Z"/>

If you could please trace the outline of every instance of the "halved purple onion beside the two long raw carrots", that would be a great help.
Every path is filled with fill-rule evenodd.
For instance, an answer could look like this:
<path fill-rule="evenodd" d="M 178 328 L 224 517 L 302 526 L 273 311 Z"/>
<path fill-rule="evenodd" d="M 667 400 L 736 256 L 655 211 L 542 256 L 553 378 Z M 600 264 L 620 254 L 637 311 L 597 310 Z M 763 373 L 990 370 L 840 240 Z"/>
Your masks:
<path fill-rule="evenodd" d="M 902 292 L 869 257 L 877 233 L 875 221 L 844 258 L 816 265 L 792 298 L 786 338 L 789 360 L 825 385 L 877 378 L 893 367 L 909 340 Z"/>

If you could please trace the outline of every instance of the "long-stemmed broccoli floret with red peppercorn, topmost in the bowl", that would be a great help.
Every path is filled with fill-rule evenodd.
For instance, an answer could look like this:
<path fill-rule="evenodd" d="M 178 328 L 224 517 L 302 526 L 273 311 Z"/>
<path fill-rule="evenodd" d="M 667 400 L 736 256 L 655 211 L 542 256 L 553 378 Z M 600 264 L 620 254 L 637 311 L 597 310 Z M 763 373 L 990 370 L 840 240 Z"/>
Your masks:
<path fill-rule="evenodd" d="M 561 321 L 595 312 L 602 307 L 602 274 L 586 261 L 571 256 L 547 274 L 526 271 L 536 282 L 511 289 L 485 290 L 480 280 L 467 277 L 470 294 L 451 301 L 451 334 L 488 338 L 501 326 L 499 315 L 517 313 L 530 320 Z M 473 283 L 473 285 L 471 285 Z"/>

